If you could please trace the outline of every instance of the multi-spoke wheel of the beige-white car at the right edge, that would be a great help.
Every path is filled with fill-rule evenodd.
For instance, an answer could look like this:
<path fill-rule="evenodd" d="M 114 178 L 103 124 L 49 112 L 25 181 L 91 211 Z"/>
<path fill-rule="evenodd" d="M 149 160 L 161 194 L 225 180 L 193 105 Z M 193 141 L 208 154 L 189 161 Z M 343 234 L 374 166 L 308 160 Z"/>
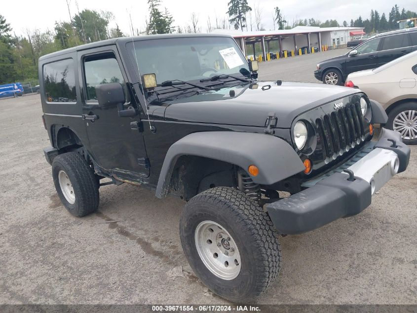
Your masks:
<path fill-rule="evenodd" d="M 406 144 L 417 144 L 417 103 L 402 103 L 388 114 L 386 127 L 401 134 Z"/>

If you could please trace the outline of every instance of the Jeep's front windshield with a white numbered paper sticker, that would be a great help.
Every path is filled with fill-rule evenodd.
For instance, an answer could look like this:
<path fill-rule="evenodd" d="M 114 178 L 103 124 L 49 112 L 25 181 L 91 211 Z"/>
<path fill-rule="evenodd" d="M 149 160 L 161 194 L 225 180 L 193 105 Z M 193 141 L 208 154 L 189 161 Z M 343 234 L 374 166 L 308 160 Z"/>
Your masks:
<path fill-rule="evenodd" d="M 142 40 L 128 43 L 126 47 L 133 64 L 137 58 L 140 74 L 155 73 L 158 84 L 200 80 L 221 74 L 250 74 L 248 62 L 232 38 Z"/>

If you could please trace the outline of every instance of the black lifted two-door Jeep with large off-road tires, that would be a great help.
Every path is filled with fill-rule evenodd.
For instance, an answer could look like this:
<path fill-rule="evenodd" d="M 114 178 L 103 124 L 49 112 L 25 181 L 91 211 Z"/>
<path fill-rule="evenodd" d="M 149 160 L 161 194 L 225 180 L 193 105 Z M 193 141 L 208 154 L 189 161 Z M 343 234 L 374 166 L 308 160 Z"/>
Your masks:
<path fill-rule="evenodd" d="M 187 201 L 180 237 L 216 294 L 251 301 L 276 279 L 279 234 L 360 213 L 407 168 L 401 135 L 359 89 L 257 80 L 220 35 L 156 35 L 39 59 L 57 193 L 82 217 L 123 182 Z M 105 182 L 101 182 L 105 179 Z M 282 197 L 284 194 L 289 197 Z"/>

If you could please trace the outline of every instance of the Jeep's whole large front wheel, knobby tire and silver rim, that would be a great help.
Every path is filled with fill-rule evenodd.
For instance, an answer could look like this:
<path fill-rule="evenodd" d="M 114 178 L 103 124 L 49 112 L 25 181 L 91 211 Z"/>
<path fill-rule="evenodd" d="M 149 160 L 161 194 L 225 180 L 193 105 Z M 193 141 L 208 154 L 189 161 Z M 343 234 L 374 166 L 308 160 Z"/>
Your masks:
<path fill-rule="evenodd" d="M 278 275 L 281 252 L 271 220 L 234 188 L 215 187 L 190 199 L 180 237 L 194 273 L 229 301 L 256 299 Z"/>

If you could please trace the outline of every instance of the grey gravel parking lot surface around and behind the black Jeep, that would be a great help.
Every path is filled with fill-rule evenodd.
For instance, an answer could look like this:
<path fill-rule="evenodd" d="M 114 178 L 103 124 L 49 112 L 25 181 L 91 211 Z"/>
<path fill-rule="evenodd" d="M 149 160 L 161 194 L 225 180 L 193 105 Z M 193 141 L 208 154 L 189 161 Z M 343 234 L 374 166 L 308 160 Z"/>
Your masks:
<path fill-rule="evenodd" d="M 265 62 L 260 78 L 317 82 L 317 61 L 344 51 Z M 43 156 L 49 140 L 40 117 L 38 95 L 0 100 L 0 303 L 227 303 L 183 255 L 182 200 L 104 186 L 98 213 L 67 213 Z M 416 304 L 416 222 L 414 146 L 409 169 L 362 214 L 280 239 L 283 268 L 259 303 Z M 178 267 L 183 277 L 169 278 Z"/>

